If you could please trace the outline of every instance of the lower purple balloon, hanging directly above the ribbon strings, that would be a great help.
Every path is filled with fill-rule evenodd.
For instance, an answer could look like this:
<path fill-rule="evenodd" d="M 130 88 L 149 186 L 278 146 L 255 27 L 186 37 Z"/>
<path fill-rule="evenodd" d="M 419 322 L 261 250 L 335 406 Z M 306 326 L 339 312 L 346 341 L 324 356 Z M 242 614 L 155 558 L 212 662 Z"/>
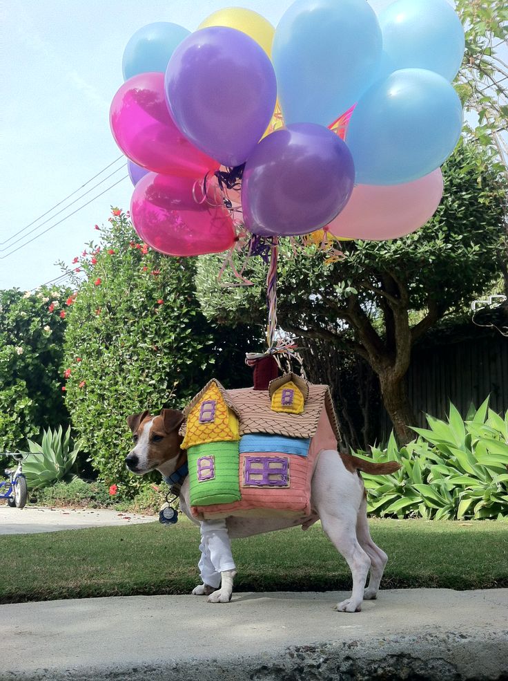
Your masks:
<path fill-rule="evenodd" d="M 242 180 L 244 223 L 253 234 L 293 236 L 327 225 L 353 191 L 346 144 L 314 123 L 293 123 L 265 137 Z"/>

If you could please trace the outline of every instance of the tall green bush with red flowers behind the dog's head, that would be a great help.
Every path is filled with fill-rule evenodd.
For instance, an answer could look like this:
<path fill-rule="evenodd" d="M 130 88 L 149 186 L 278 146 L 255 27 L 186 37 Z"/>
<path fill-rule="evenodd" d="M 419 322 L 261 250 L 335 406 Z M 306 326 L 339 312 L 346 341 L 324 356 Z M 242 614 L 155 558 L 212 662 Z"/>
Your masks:
<path fill-rule="evenodd" d="M 127 416 L 182 407 L 214 375 L 230 386 L 247 385 L 250 348 L 237 342 L 242 330 L 217 329 L 204 319 L 195 259 L 151 250 L 119 209 L 100 231 L 102 243 L 89 243 L 75 263 L 86 278 L 76 278 L 77 297 L 67 310 L 64 393 L 101 481 L 134 494 L 142 479 L 124 463 L 131 447 Z"/>

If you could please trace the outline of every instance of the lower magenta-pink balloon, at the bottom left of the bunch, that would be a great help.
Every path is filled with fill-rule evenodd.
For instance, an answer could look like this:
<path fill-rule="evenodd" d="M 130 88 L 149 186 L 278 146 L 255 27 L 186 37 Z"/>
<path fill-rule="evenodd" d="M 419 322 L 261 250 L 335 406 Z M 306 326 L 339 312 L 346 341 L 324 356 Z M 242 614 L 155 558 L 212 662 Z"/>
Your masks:
<path fill-rule="evenodd" d="M 155 250 L 174 256 L 219 253 L 235 242 L 233 221 L 211 185 L 197 203 L 193 178 L 148 173 L 137 183 L 130 215 L 134 228 Z"/>

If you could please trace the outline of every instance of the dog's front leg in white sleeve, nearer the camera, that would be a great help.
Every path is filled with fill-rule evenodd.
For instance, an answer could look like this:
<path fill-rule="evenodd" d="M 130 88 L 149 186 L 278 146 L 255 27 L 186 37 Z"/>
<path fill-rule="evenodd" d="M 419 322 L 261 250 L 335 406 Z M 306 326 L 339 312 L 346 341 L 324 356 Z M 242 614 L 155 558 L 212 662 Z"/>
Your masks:
<path fill-rule="evenodd" d="M 236 575 L 235 561 L 231 554 L 231 541 L 225 520 L 203 521 L 202 541 L 213 568 L 220 573 L 221 584 L 217 591 L 208 596 L 208 603 L 228 603 L 233 593 L 233 579 Z"/>

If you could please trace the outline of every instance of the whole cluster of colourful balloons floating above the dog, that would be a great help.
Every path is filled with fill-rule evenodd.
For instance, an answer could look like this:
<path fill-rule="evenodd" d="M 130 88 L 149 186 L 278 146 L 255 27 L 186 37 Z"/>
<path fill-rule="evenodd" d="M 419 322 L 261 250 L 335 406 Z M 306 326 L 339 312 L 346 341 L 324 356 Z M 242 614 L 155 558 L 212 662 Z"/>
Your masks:
<path fill-rule="evenodd" d="M 144 26 L 110 109 L 135 229 L 177 256 L 231 248 L 239 212 L 257 236 L 413 232 L 460 137 L 463 53 L 446 0 L 379 16 L 367 0 L 296 0 L 276 30 L 241 8 L 193 33 Z"/>

